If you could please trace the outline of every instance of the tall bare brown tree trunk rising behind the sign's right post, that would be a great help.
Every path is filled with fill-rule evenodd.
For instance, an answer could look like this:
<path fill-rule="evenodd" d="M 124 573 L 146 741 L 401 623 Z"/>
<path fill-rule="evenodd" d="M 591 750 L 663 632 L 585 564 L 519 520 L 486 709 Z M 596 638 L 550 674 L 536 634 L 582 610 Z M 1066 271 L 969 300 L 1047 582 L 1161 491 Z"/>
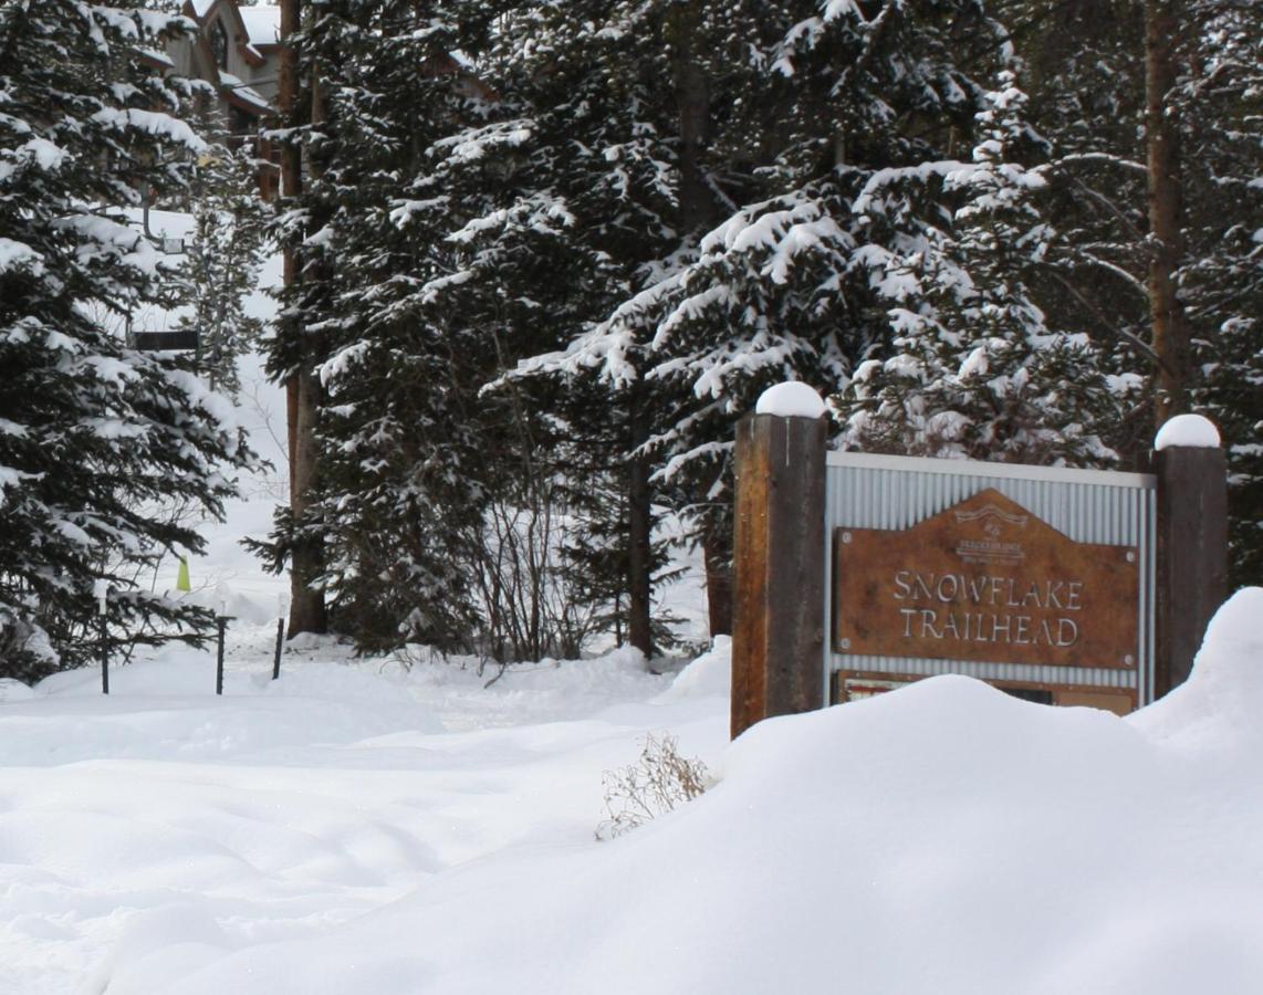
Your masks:
<path fill-rule="evenodd" d="M 1158 426 L 1188 407 L 1194 379 L 1188 325 L 1177 273 L 1183 259 L 1180 187 L 1180 120 L 1171 100 L 1181 21 L 1178 0 L 1146 0 L 1144 91 L 1149 169 L 1149 327 L 1158 359 L 1154 419 Z"/>

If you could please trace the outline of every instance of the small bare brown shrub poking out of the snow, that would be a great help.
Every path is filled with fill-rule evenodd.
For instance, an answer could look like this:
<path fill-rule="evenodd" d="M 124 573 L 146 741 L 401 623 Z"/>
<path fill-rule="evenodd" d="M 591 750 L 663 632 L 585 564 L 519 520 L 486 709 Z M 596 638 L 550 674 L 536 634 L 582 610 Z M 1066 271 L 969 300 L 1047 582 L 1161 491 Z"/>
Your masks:
<path fill-rule="evenodd" d="M 706 764 L 681 756 L 674 736 L 649 732 L 634 764 L 601 775 L 609 818 L 596 827 L 596 838 L 613 840 L 630 832 L 692 801 L 710 783 Z"/>

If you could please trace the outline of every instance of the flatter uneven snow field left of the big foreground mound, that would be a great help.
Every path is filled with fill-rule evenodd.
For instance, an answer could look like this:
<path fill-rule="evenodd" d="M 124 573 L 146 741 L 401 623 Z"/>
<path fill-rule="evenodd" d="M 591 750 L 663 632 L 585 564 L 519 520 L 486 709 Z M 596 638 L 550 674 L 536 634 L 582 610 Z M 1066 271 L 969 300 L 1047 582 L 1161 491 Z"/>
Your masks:
<path fill-rule="evenodd" d="M 242 971 L 205 981 L 234 992 L 442 990 L 371 980 L 402 953 L 375 944 L 344 947 L 346 975 L 301 977 L 292 944 L 356 944 L 341 929 L 453 874 L 592 850 L 601 772 L 643 729 L 711 756 L 725 740 L 722 700 L 628 654 L 484 689 L 471 668 L 357 664 L 313 640 L 273 683 L 270 628 L 237 631 L 222 698 L 210 654 L 173 649 L 116 670 L 109 698 L 76 672 L 0 705 L 0 991 L 193 990 L 202 967 Z M 234 966 L 251 951 L 273 951 L 274 980 Z"/>

